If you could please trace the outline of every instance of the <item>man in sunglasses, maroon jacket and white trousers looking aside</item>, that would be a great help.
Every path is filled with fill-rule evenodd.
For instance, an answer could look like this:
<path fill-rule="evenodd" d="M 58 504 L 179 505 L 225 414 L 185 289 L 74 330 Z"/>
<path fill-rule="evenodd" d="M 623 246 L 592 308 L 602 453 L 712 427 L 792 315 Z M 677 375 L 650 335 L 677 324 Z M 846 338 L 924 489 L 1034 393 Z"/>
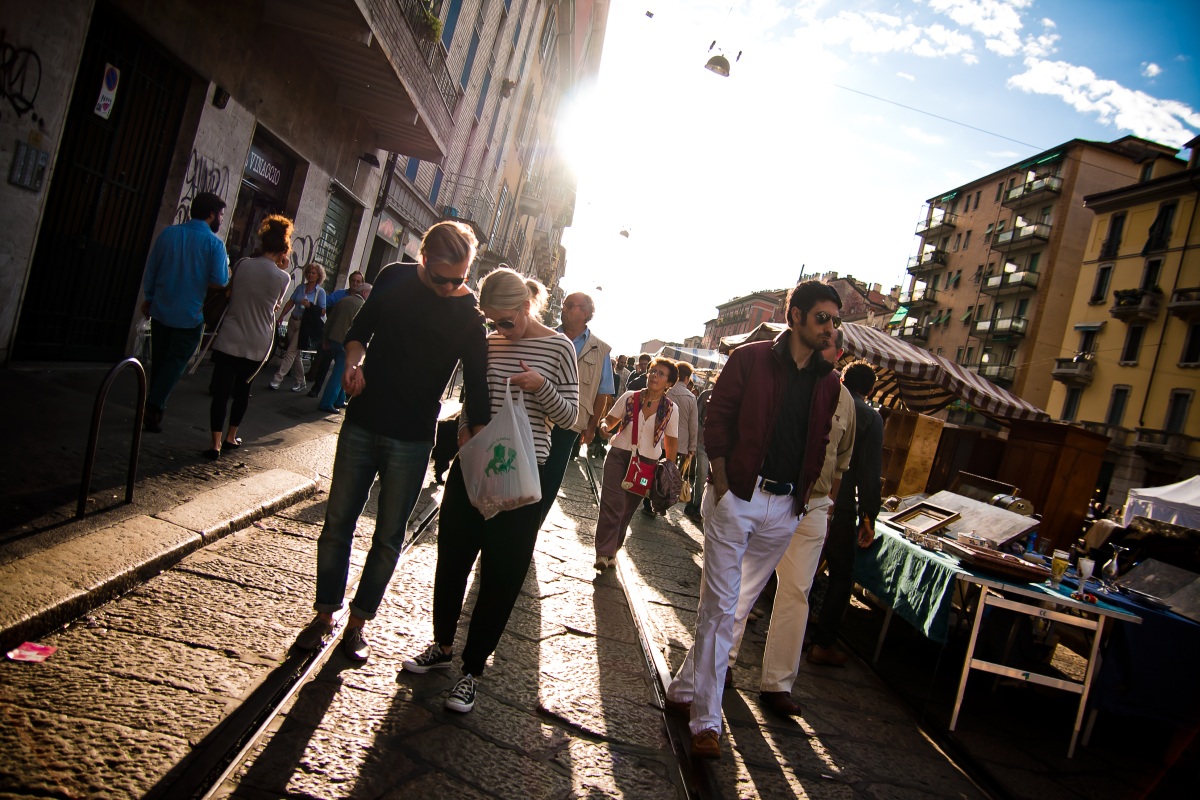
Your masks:
<path fill-rule="evenodd" d="M 841 299 L 817 281 L 787 299 L 787 330 L 730 356 L 704 420 L 712 487 L 704 494 L 704 566 L 696 636 L 667 687 L 667 705 L 689 710 L 691 753 L 721 754 L 721 696 L 738 594 L 757 596 L 804 516 L 824 464 L 841 384 L 821 356 Z"/>

